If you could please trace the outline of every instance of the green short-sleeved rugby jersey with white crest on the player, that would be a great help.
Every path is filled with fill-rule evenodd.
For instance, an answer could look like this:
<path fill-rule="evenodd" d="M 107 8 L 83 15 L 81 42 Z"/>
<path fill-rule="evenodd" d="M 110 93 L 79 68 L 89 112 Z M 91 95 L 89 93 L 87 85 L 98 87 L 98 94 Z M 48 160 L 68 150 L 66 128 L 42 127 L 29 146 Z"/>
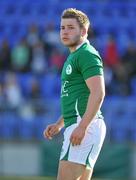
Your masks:
<path fill-rule="evenodd" d="M 103 75 L 103 63 L 99 53 L 89 42 L 70 53 L 61 74 L 61 111 L 65 127 L 77 122 L 84 115 L 90 91 L 85 80 Z M 97 113 L 100 116 L 101 112 Z"/>

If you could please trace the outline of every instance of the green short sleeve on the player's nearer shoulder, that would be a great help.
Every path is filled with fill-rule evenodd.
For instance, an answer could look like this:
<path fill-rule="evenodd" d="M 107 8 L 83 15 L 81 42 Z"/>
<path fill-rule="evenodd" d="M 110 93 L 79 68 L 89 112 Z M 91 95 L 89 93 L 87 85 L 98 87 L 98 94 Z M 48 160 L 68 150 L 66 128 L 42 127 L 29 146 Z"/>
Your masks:
<path fill-rule="evenodd" d="M 78 68 L 84 79 L 96 75 L 103 75 L 103 62 L 100 56 L 84 51 L 79 55 Z"/>

